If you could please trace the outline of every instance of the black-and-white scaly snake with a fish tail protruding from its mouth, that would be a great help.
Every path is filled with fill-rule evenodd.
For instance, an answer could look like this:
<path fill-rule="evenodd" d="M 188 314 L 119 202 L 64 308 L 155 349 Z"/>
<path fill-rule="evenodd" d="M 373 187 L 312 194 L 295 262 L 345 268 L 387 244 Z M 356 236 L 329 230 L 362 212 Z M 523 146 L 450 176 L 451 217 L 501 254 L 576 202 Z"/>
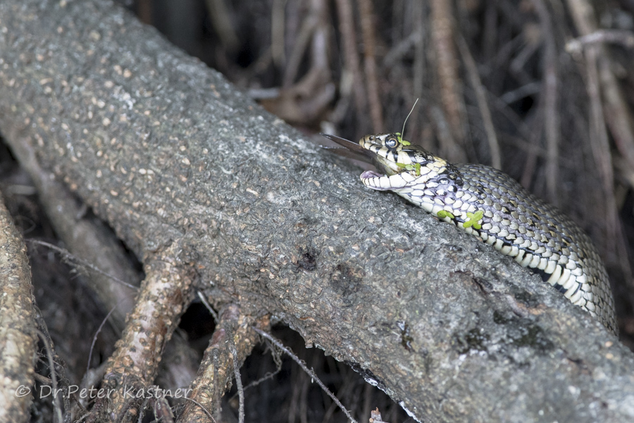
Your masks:
<path fill-rule="evenodd" d="M 371 159 L 383 172 L 361 173 L 367 188 L 396 192 L 441 221 L 478 236 L 542 276 L 618 335 L 609 278 L 590 237 L 511 176 L 484 164 L 451 164 L 400 133 L 366 135 L 359 142 L 321 135 Z"/>

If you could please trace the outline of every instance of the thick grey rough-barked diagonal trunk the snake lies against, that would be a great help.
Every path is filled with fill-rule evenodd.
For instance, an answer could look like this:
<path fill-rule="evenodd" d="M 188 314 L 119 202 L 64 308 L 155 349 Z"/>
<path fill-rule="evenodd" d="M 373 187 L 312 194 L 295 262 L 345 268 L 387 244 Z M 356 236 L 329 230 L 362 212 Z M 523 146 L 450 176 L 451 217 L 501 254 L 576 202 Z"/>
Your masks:
<path fill-rule="evenodd" d="M 178 245 L 216 305 L 281 318 L 420 421 L 634 417 L 634 357 L 585 312 L 109 1 L 0 3 L 0 130 L 144 262 Z"/>

